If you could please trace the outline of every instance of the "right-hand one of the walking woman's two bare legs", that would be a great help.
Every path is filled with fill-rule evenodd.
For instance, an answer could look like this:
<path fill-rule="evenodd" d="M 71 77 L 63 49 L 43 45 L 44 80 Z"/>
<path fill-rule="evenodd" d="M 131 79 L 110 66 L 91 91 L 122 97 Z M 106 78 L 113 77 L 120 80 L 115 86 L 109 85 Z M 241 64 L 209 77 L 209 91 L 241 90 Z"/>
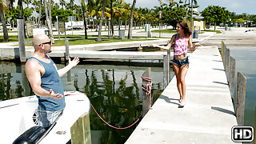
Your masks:
<path fill-rule="evenodd" d="M 186 73 L 189 70 L 189 64 L 186 63 L 185 65 L 182 65 L 179 69 L 179 79 L 180 79 L 180 83 L 181 83 L 181 87 L 182 87 L 182 102 L 185 102 L 185 96 L 186 96 L 186 83 L 185 83 L 185 77 L 186 77 Z"/>

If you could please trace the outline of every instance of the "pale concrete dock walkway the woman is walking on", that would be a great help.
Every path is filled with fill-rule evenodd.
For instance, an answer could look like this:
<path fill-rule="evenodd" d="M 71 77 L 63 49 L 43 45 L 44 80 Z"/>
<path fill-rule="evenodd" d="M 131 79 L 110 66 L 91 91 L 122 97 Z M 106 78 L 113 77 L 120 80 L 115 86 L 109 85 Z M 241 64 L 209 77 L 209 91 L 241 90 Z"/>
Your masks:
<path fill-rule="evenodd" d="M 179 108 L 178 100 L 174 77 L 126 144 L 233 143 L 231 128 L 238 124 L 218 46 L 190 54 L 186 105 Z"/>

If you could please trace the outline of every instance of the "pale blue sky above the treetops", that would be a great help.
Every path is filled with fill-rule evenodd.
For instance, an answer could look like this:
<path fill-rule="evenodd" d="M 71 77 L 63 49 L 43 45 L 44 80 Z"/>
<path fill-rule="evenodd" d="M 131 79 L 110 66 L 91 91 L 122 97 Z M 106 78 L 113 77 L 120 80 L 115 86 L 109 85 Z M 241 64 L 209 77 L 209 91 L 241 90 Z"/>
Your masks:
<path fill-rule="evenodd" d="M 132 3 L 134 0 L 124 0 L 126 3 Z M 174 0 L 178 2 L 179 0 Z M 166 0 L 162 0 L 162 2 L 167 2 Z M 226 10 L 230 12 L 234 12 L 235 14 L 256 14 L 255 6 L 256 0 L 197 0 L 198 2 L 198 11 L 201 12 L 207 6 L 222 6 L 226 7 Z M 154 8 L 154 6 L 160 6 L 158 0 L 137 0 L 135 7 L 147 7 Z"/>

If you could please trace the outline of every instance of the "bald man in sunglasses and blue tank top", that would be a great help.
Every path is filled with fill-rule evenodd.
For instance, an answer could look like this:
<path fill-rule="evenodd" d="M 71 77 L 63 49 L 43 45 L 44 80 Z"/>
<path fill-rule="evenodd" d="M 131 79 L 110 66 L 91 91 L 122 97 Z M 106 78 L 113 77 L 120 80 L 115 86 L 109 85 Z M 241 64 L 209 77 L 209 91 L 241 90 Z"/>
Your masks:
<path fill-rule="evenodd" d="M 58 70 L 47 55 L 51 52 L 50 39 L 38 34 L 32 43 L 34 54 L 26 62 L 26 77 L 38 97 L 38 125 L 49 127 L 66 106 L 61 77 L 78 64 L 79 58 Z"/>

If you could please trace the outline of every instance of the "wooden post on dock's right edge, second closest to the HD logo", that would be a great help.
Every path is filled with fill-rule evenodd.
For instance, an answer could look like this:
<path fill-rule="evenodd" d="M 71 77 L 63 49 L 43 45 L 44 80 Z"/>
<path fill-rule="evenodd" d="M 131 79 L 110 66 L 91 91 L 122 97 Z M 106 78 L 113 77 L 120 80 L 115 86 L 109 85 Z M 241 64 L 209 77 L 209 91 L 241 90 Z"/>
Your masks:
<path fill-rule="evenodd" d="M 232 102 L 234 102 L 234 77 L 235 77 L 235 59 L 230 57 L 230 94 Z"/>

